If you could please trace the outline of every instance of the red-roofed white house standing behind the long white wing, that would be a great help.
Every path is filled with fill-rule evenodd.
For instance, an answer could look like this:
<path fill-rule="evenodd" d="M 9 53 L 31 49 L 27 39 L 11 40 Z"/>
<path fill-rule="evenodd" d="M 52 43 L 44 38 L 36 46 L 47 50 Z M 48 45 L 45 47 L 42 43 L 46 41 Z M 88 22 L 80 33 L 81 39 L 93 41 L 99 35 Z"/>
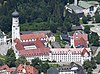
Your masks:
<path fill-rule="evenodd" d="M 70 36 L 70 44 L 74 48 L 87 48 L 88 35 L 82 31 L 75 31 L 73 36 Z"/>

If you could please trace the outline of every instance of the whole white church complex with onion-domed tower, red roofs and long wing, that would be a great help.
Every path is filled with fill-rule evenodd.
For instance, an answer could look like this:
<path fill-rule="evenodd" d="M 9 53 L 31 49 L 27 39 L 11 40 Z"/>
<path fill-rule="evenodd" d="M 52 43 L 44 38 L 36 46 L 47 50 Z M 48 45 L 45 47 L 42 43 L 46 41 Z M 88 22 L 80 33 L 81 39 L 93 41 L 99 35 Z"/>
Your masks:
<path fill-rule="evenodd" d="M 19 13 L 15 10 L 12 13 L 12 48 L 16 59 L 21 55 L 27 61 L 38 57 L 46 61 L 56 62 L 80 62 L 91 60 L 90 48 L 52 48 L 51 42 L 55 42 L 54 36 L 49 36 L 50 32 L 20 32 Z"/>

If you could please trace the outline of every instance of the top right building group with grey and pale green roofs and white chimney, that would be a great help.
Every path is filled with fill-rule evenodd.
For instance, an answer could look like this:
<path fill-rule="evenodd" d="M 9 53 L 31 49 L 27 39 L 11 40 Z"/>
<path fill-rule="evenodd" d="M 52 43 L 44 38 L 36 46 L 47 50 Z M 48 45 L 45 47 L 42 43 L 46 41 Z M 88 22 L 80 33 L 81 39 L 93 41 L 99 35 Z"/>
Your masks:
<path fill-rule="evenodd" d="M 68 4 L 65 9 L 70 13 L 75 12 L 79 17 L 91 15 L 94 16 L 95 12 L 98 10 L 99 3 L 97 1 L 82 1 L 79 2 L 74 0 L 74 4 Z"/>

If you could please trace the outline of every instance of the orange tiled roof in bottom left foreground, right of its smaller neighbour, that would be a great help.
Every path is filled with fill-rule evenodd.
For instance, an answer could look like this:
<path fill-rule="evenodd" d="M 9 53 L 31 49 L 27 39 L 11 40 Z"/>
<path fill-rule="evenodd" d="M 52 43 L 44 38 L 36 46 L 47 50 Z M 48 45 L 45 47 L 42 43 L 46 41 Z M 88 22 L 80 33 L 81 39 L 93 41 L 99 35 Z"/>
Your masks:
<path fill-rule="evenodd" d="M 23 69 L 26 70 L 26 74 L 37 74 L 37 69 L 30 66 L 30 65 L 22 65 L 20 64 L 18 67 L 17 67 L 17 72 L 19 73 L 23 73 Z"/>

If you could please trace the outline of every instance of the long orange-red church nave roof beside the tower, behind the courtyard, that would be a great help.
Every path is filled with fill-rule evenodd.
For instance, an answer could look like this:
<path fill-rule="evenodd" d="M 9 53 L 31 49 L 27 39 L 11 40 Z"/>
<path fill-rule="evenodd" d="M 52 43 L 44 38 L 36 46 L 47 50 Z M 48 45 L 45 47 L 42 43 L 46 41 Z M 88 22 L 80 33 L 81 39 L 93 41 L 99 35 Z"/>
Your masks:
<path fill-rule="evenodd" d="M 39 34 L 23 34 L 20 35 L 21 40 L 29 40 L 29 39 L 37 39 L 37 38 L 46 38 L 45 33 L 39 33 Z"/>

